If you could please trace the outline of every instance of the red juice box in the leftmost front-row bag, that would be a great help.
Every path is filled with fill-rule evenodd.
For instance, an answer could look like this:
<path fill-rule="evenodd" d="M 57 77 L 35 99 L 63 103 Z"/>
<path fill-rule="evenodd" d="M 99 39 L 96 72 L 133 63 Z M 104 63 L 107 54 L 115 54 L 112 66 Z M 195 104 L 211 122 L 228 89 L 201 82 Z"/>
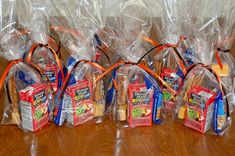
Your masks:
<path fill-rule="evenodd" d="M 19 91 L 22 127 L 37 131 L 48 124 L 47 87 L 34 83 Z"/>

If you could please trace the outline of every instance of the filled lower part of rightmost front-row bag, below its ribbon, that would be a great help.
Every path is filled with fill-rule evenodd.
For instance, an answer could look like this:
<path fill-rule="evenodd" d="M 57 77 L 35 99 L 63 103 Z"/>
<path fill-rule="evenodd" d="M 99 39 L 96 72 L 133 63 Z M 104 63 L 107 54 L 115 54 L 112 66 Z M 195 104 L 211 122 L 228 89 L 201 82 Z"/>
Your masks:
<path fill-rule="evenodd" d="M 229 107 L 211 71 L 202 65 L 190 70 L 177 98 L 176 117 L 200 133 L 221 135 L 230 125 Z"/>

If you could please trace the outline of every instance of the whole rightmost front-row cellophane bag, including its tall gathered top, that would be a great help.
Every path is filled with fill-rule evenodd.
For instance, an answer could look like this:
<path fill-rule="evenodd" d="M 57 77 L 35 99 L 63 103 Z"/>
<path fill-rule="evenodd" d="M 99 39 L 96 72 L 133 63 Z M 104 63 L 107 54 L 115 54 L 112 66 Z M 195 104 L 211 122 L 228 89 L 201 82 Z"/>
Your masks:
<path fill-rule="evenodd" d="M 228 98 L 220 75 L 211 68 L 213 43 L 218 35 L 220 1 L 194 1 L 195 38 L 192 44 L 196 62 L 188 68 L 177 98 L 176 118 L 202 134 L 223 135 L 231 125 Z M 208 9 L 209 8 L 209 9 Z M 206 15 L 206 16 L 205 16 Z"/>

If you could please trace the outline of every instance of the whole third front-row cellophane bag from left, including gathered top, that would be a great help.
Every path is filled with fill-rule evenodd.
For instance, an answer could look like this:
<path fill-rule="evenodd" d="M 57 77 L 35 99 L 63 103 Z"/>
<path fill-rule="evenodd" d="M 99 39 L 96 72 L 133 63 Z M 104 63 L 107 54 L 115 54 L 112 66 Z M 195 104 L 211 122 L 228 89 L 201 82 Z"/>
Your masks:
<path fill-rule="evenodd" d="M 120 18 L 107 23 L 113 48 L 122 59 L 108 70 L 117 86 L 110 84 L 106 102 L 118 127 L 151 126 L 163 122 L 162 91 L 149 73 L 143 36 L 149 36 L 152 18 L 146 1 L 119 2 Z"/>

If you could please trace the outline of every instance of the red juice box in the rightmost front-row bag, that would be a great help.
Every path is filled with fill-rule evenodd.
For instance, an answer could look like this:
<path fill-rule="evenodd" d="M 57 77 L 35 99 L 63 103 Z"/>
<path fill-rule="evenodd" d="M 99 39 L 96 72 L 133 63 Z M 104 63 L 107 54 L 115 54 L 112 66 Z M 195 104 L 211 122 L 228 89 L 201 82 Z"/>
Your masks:
<path fill-rule="evenodd" d="M 205 133 L 212 126 L 216 93 L 196 86 L 188 92 L 184 125 Z"/>

